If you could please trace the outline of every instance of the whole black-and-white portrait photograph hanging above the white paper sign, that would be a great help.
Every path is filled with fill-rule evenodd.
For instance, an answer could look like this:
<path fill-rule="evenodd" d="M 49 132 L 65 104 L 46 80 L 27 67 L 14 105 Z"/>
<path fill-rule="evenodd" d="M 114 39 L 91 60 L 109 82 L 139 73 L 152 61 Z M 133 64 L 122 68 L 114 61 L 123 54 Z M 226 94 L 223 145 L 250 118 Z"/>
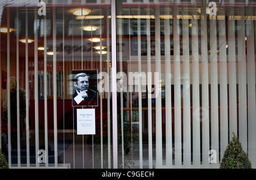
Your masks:
<path fill-rule="evenodd" d="M 72 106 L 98 106 L 98 70 L 72 70 Z"/>

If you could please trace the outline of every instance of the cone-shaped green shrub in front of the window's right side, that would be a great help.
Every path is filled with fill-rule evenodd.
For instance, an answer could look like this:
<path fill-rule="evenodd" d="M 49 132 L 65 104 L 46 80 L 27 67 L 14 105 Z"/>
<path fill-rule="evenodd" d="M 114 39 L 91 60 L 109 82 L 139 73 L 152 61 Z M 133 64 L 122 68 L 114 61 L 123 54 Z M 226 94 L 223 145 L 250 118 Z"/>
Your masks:
<path fill-rule="evenodd" d="M 221 160 L 221 169 L 251 169 L 248 154 L 242 149 L 238 137 L 233 133 L 232 141 L 226 147 Z"/>

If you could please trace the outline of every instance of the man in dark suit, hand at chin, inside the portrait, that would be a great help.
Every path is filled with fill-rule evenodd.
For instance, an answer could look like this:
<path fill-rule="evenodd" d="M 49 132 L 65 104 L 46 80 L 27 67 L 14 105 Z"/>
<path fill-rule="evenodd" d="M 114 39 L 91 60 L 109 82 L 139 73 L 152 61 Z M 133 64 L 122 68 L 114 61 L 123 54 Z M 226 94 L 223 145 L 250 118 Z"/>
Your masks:
<path fill-rule="evenodd" d="M 76 91 L 73 94 L 73 106 L 95 106 L 97 91 L 89 89 L 89 76 L 85 73 L 76 74 L 73 78 Z"/>

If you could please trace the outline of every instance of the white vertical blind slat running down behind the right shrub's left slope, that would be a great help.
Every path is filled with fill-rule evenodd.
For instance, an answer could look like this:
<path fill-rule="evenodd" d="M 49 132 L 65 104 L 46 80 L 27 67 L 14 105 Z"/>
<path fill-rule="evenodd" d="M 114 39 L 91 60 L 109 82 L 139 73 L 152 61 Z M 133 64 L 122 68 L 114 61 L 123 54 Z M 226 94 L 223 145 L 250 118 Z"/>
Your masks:
<path fill-rule="evenodd" d="M 228 87 L 226 66 L 226 22 L 218 20 L 220 44 L 220 147 L 221 159 L 228 145 Z"/>

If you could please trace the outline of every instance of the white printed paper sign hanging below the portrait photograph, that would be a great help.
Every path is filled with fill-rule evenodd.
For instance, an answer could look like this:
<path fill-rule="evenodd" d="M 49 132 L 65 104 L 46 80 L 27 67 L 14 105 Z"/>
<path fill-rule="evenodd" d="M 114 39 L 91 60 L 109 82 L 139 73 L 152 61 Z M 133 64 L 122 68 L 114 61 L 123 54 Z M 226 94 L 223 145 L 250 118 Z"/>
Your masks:
<path fill-rule="evenodd" d="M 77 109 L 77 135 L 95 135 L 95 109 Z"/>

